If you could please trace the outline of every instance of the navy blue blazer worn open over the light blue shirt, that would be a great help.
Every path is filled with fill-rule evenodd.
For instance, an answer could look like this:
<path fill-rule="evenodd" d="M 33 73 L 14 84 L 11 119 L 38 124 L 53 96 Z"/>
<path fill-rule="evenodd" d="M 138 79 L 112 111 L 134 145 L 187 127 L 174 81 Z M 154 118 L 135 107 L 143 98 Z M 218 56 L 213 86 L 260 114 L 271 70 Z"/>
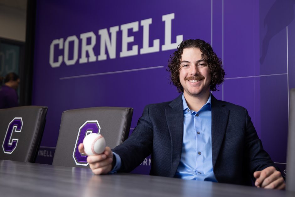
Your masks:
<path fill-rule="evenodd" d="M 263 150 L 247 110 L 212 95 L 212 164 L 218 182 L 251 185 L 258 170 L 274 166 Z M 183 140 L 182 94 L 144 108 L 131 136 L 113 151 L 120 172 L 130 172 L 151 154 L 151 175 L 174 177 Z"/>

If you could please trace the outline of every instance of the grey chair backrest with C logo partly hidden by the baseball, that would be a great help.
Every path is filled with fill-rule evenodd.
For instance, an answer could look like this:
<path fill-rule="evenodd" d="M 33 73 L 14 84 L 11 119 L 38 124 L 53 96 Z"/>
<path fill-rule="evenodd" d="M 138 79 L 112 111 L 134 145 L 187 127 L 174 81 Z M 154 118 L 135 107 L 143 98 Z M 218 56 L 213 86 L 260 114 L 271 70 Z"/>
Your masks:
<path fill-rule="evenodd" d="M 133 108 L 91 107 L 62 113 L 52 165 L 89 168 L 78 145 L 89 133 L 102 134 L 106 146 L 114 148 L 128 138 Z"/>

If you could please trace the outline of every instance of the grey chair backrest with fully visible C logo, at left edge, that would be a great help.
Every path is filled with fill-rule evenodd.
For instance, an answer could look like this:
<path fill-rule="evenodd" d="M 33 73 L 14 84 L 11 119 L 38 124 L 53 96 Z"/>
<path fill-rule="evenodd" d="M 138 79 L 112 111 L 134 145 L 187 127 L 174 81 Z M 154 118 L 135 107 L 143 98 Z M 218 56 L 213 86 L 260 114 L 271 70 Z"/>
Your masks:
<path fill-rule="evenodd" d="M 0 109 L 0 159 L 34 162 L 40 146 L 47 107 Z"/>

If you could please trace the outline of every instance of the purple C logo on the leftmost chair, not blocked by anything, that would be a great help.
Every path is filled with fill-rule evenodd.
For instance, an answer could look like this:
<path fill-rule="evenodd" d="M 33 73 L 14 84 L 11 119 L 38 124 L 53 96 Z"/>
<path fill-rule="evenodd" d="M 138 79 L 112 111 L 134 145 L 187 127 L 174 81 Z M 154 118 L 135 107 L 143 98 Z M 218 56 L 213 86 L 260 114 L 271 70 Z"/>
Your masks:
<path fill-rule="evenodd" d="M 7 131 L 4 137 L 2 148 L 4 153 L 12 154 L 17 146 L 19 139 L 12 138 L 14 132 L 21 132 L 23 127 L 22 118 L 13 118 L 13 120 L 8 124 Z"/>

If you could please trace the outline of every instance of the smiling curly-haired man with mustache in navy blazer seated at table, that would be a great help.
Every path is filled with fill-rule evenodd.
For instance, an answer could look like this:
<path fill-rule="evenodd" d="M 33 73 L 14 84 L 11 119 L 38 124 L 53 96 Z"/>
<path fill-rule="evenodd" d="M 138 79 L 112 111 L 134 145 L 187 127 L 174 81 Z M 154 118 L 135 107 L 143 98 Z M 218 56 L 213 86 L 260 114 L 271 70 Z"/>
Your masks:
<path fill-rule="evenodd" d="M 221 60 L 202 40 L 183 41 L 169 61 L 180 92 L 173 101 L 145 107 L 131 136 L 87 161 L 95 174 L 129 172 L 152 156 L 151 175 L 283 189 L 285 182 L 263 150 L 245 108 L 218 101 Z M 83 152 L 83 144 L 79 145 Z"/>

